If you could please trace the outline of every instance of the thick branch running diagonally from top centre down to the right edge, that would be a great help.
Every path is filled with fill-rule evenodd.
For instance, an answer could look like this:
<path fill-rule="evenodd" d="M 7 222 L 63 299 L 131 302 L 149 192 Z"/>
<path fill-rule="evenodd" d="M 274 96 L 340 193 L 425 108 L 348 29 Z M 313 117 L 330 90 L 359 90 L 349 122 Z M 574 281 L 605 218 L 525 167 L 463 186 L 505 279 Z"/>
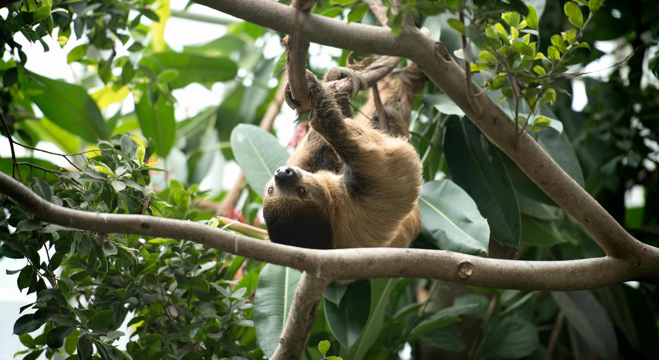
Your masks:
<path fill-rule="evenodd" d="M 243 18 L 280 32 L 290 32 L 295 9 L 269 0 L 200 0 L 224 13 Z M 340 20 L 306 16 L 299 32 L 306 39 L 355 51 L 404 56 L 418 64 L 494 143 L 496 143 L 540 188 L 567 213 L 584 226 L 594 240 L 612 257 L 638 259 L 648 269 L 659 263 L 659 249 L 633 238 L 577 182 L 523 132 L 509 131 L 512 120 L 486 94 L 474 93 L 467 99 L 465 71 L 453 61 L 444 44 L 424 36 L 416 29 L 401 32 L 396 38 L 387 28 L 345 23 Z M 477 84 L 473 84 L 478 89 Z M 482 109 L 474 109 L 471 102 Z M 515 126 L 517 126 L 515 124 Z"/>

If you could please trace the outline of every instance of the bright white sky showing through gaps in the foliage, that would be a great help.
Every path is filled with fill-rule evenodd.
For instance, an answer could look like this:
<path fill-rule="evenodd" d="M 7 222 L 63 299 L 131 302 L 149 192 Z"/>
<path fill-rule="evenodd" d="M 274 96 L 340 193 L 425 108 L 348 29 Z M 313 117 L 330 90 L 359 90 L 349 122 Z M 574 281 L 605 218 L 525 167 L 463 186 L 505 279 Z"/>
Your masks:
<path fill-rule="evenodd" d="M 171 0 L 171 9 L 183 11 L 186 3 L 187 0 Z M 188 13 L 199 14 L 202 16 L 212 16 L 221 20 L 236 20 L 231 16 L 219 13 L 218 11 L 197 4 L 189 7 Z M 6 14 L 7 9 L 0 10 L 1 16 L 4 17 Z M 130 17 L 132 18 L 133 16 L 134 15 Z M 142 22 L 144 24 L 148 24 L 150 20 L 143 17 Z M 226 26 L 224 25 L 199 22 L 196 20 L 188 20 L 185 18 L 177 18 L 172 16 L 169 18 L 169 20 L 167 20 L 167 26 L 165 27 L 165 41 L 173 50 L 181 51 L 184 45 L 207 43 L 208 41 L 212 41 L 221 37 L 223 34 L 225 34 L 225 32 Z M 56 34 L 53 34 L 53 36 L 55 39 L 57 38 Z M 82 71 L 84 70 L 83 65 L 79 63 L 67 64 L 66 59 L 67 53 L 69 53 L 73 47 L 85 43 L 86 41 L 81 39 L 74 39 L 74 35 L 72 35 L 72 38 L 69 39 L 69 42 L 67 45 L 65 45 L 64 49 L 61 49 L 59 44 L 54 39 L 45 37 L 44 40 L 48 43 L 50 51 L 43 53 L 43 48 L 39 43 L 36 45 L 30 45 L 28 41 L 26 41 L 26 39 L 22 36 L 22 34 L 16 34 L 15 39 L 24 45 L 23 51 L 28 56 L 28 63 L 26 64 L 26 68 L 29 70 L 49 78 L 63 79 L 67 82 L 77 82 L 77 80 L 80 78 Z M 598 41 L 594 45 L 605 53 L 610 53 L 617 48 L 616 41 Z M 602 58 L 598 59 L 598 61 L 588 64 L 585 69 L 581 69 L 579 71 L 590 72 L 601 70 L 588 76 L 606 79 L 608 76 L 610 76 L 610 74 L 612 74 L 613 71 L 615 71 L 615 69 L 602 69 L 607 69 L 612 64 L 615 64 L 623 59 L 626 55 L 629 54 L 629 51 L 631 51 L 631 48 L 627 49 L 627 53 L 624 53 L 623 51 L 617 53 L 616 55 L 604 55 Z M 656 51 L 656 49 L 654 49 L 654 51 Z M 264 55 L 266 55 L 267 58 L 273 57 L 276 61 L 277 57 L 281 55 L 282 52 L 283 49 L 279 45 L 279 38 L 277 36 L 272 36 L 270 39 L 268 39 L 268 42 L 264 47 Z M 331 61 L 331 57 L 339 56 L 341 54 L 341 50 L 312 43 L 310 46 L 310 54 L 310 62 L 312 63 L 312 66 L 321 68 L 334 65 L 333 61 Z M 122 55 L 126 54 L 118 53 L 117 57 Z M 654 76 L 652 76 L 652 74 L 648 73 L 643 78 L 643 86 L 647 86 L 648 84 L 650 86 L 657 86 L 659 82 Z M 274 86 L 275 84 L 271 85 Z M 100 88 L 102 88 L 102 86 L 94 88 L 90 92 L 96 91 Z M 224 86 L 220 83 L 212 86 L 210 90 L 199 84 L 190 84 L 186 86 L 186 88 L 174 90 L 173 95 L 178 101 L 177 105 L 175 105 L 175 117 L 177 121 L 183 120 L 190 116 L 194 116 L 201 109 L 204 109 L 210 105 L 218 105 L 222 100 L 223 90 Z M 576 111 L 581 111 L 581 109 L 587 105 L 585 87 L 581 80 L 575 80 L 573 82 L 573 92 L 574 94 L 572 107 Z M 130 113 L 134 107 L 132 95 L 129 95 L 129 97 L 127 97 L 123 103 L 111 105 L 111 107 L 105 109 L 104 115 L 113 115 L 117 109 L 119 109 L 119 107 L 121 107 L 122 113 Z M 37 108 L 35 109 L 38 111 Z M 275 120 L 274 128 L 277 133 L 277 138 L 283 145 L 287 145 L 291 135 L 293 134 L 294 124 L 291 120 L 294 116 L 295 115 L 293 111 L 289 109 L 287 105 L 283 105 L 281 114 L 277 116 Z M 659 147 L 656 146 L 656 143 L 652 145 L 654 145 L 654 147 L 659 151 Z M 45 141 L 41 141 L 37 147 L 53 152 L 61 152 L 58 147 Z M 17 156 L 29 155 L 25 149 L 21 147 L 17 147 L 16 152 Z M 9 150 L 7 138 L 0 136 L 0 157 L 10 156 L 11 152 Z M 54 155 L 35 152 L 34 156 L 46 159 L 57 165 L 67 165 L 67 163 L 61 157 Z M 175 148 L 172 149 L 171 155 L 169 155 L 169 157 L 179 158 L 184 156 L 185 155 L 183 155 L 181 151 L 178 151 Z M 650 165 L 647 166 L 650 167 Z M 218 193 L 221 189 L 231 188 L 238 171 L 239 167 L 234 161 L 225 161 L 218 152 L 217 155 L 215 155 L 212 170 L 202 181 L 201 188 L 211 190 L 213 193 Z M 625 204 L 627 207 L 642 206 L 644 201 L 643 188 L 640 186 L 632 188 L 625 195 Z M 24 346 L 22 346 L 18 340 L 18 336 L 12 335 L 13 324 L 14 321 L 16 321 L 16 319 L 18 319 L 20 316 L 18 314 L 19 307 L 34 301 L 34 294 L 31 294 L 30 296 L 20 294 L 20 292 L 18 292 L 18 288 L 16 287 L 17 275 L 5 275 L 5 269 L 20 269 L 24 265 L 24 260 L 7 258 L 0 260 L 0 307 L 2 309 L 0 313 L 5 319 L 5 321 L 0 324 L 0 344 L 3 345 L 0 346 L 0 359 L 11 359 L 16 351 L 24 349 Z M 28 309 L 24 313 L 28 313 L 30 311 L 34 310 Z M 130 315 L 127 321 L 129 321 L 129 319 Z M 128 334 L 127 330 L 124 329 L 124 331 Z M 40 330 L 32 333 L 33 336 L 37 336 L 38 334 L 40 334 Z M 125 341 L 126 340 L 124 340 L 124 342 Z M 53 357 L 55 360 L 61 360 L 64 358 L 65 357 Z M 45 359 L 45 356 L 42 355 L 40 359 Z"/>

